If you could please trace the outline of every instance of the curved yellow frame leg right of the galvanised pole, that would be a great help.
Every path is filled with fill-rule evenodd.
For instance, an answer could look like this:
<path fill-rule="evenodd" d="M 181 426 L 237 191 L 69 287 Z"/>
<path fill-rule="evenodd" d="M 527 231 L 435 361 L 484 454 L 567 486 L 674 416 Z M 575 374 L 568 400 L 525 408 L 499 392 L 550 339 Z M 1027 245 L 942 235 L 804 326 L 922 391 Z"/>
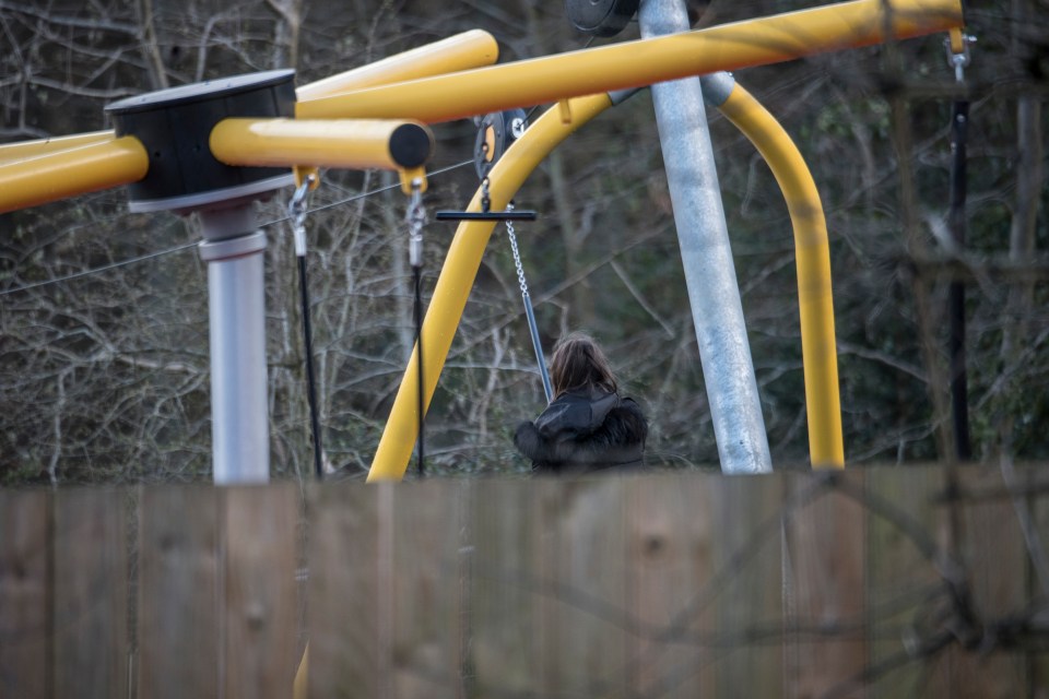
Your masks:
<path fill-rule="evenodd" d="M 787 200 L 794 228 L 810 459 L 814 469 L 844 469 L 830 248 L 820 192 L 793 141 L 749 92 L 736 84 L 719 109 L 768 163 Z"/>

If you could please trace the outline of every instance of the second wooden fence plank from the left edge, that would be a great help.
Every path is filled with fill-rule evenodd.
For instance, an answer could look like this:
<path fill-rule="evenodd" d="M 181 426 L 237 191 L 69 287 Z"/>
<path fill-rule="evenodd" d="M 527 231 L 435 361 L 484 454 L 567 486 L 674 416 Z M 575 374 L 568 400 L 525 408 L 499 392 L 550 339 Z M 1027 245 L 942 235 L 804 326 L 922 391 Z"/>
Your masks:
<path fill-rule="evenodd" d="M 127 491 L 55 494 L 55 696 L 128 696 Z"/>

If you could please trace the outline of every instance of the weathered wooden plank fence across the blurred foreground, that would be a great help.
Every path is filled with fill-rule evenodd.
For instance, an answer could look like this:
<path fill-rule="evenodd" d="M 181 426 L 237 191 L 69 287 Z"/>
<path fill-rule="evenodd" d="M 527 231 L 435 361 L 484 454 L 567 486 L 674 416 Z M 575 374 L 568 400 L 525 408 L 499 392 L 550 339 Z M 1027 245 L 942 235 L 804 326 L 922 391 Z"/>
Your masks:
<path fill-rule="evenodd" d="M 1047 486 L 938 466 L 0 491 L 0 698 L 284 699 L 307 640 L 311 698 L 1042 697 Z"/>

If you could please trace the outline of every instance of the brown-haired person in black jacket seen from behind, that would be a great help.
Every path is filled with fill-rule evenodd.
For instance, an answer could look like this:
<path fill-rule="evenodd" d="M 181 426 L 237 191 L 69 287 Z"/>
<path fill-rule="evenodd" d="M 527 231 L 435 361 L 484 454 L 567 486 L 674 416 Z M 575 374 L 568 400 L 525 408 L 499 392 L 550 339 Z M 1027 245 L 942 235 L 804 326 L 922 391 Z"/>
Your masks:
<path fill-rule="evenodd" d="M 557 341 L 550 362 L 554 400 L 517 427 L 514 445 L 541 473 L 637 469 L 648 423 L 633 399 L 620 398 L 601 347 L 584 333 Z"/>

